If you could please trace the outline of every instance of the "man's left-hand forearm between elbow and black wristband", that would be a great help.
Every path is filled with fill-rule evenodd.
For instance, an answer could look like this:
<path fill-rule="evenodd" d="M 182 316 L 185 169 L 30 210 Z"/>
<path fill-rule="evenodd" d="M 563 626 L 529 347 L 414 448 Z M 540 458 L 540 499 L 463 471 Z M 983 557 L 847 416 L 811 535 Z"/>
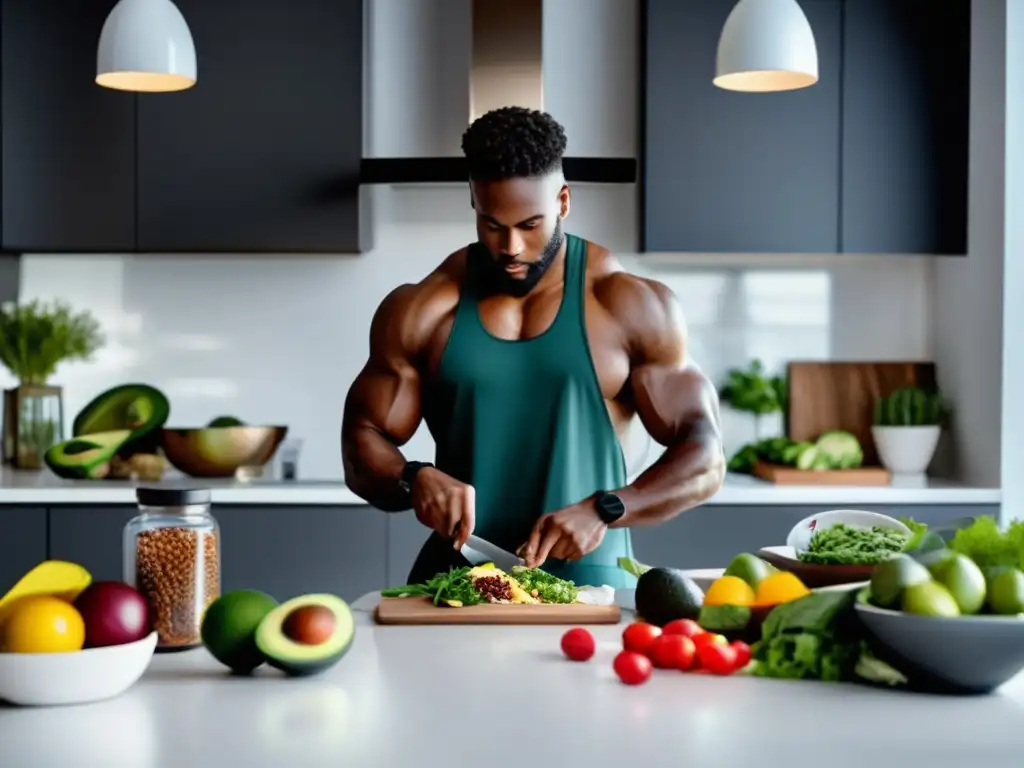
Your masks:
<path fill-rule="evenodd" d="M 409 494 L 398 484 L 406 457 L 372 427 L 343 430 L 341 437 L 345 484 L 368 504 L 384 512 L 410 508 Z"/>

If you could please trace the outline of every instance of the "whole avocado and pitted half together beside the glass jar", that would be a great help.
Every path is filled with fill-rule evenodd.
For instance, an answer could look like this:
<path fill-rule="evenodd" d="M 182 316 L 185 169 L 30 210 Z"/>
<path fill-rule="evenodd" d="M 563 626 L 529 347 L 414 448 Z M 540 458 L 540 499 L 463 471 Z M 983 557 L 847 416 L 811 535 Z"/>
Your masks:
<path fill-rule="evenodd" d="M 335 595 L 311 594 L 279 604 L 258 590 L 234 590 L 203 615 L 203 645 L 236 675 L 264 662 L 291 677 L 329 670 L 355 639 L 348 604 Z"/>

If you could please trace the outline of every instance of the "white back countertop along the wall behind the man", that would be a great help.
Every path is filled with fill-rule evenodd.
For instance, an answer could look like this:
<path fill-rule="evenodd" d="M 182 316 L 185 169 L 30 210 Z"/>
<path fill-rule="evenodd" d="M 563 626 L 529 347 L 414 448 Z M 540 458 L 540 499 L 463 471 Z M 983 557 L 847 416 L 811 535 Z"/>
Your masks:
<path fill-rule="evenodd" d="M 364 505 L 341 480 L 237 480 L 165 475 L 168 485 L 208 487 L 214 504 Z M 154 483 L 140 483 L 151 485 Z M 885 487 L 842 485 L 772 485 L 754 477 L 730 474 L 709 504 L 998 504 L 998 488 L 981 488 L 946 480 L 894 481 Z M 134 504 L 135 485 L 127 480 L 61 480 L 39 472 L 0 470 L 0 505 Z"/>

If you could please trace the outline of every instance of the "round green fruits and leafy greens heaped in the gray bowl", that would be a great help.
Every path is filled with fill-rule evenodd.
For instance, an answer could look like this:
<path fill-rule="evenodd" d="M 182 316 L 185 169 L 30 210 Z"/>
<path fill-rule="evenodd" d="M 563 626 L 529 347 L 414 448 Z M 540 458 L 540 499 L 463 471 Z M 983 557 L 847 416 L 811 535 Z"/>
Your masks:
<path fill-rule="evenodd" d="M 919 523 L 919 531 L 924 526 Z M 906 613 L 1024 614 L 1024 522 L 999 530 L 978 517 L 947 543 L 926 531 L 916 545 L 876 566 L 864 598 Z"/>

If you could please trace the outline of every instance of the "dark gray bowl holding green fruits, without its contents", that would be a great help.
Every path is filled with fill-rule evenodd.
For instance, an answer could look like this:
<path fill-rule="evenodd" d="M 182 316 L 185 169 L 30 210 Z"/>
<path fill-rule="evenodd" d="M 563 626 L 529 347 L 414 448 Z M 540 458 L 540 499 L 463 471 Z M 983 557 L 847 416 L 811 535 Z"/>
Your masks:
<path fill-rule="evenodd" d="M 948 693 L 990 693 L 1024 669 L 1024 618 L 945 618 L 902 613 L 860 600 L 857 615 L 888 659 L 915 687 Z"/>

